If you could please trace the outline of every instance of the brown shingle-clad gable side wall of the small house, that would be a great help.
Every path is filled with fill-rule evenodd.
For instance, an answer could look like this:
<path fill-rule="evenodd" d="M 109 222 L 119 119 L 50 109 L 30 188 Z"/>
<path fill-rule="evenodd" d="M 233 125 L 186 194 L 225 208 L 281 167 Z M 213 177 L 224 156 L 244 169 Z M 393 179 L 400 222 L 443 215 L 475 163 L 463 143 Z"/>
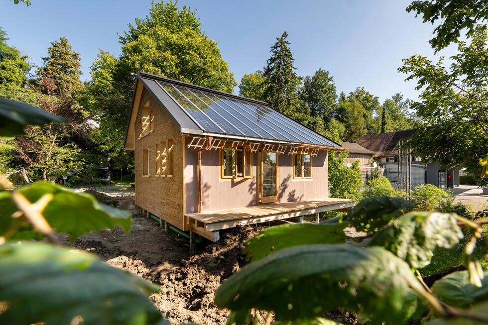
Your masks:
<path fill-rule="evenodd" d="M 138 139 L 135 138 L 135 204 L 149 213 L 161 217 L 170 224 L 185 229 L 183 200 L 183 137 L 173 121 L 158 106 L 145 90 L 142 90 L 139 103 L 149 101 L 149 110 L 153 111 L 153 131 Z M 135 125 L 142 119 L 142 106 L 139 104 Z M 137 134 L 138 135 L 138 134 Z M 135 136 L 134 136 L 135 137 Z M 156 144 L 173 139 L 173 175 L 156 177 Z M 143 177 L 143 149 L 149 149 L 149 176 Z M 169 167 L 169 166 L 168 166 Z M 170 175 L 167 175 L 170 176 Z"/>

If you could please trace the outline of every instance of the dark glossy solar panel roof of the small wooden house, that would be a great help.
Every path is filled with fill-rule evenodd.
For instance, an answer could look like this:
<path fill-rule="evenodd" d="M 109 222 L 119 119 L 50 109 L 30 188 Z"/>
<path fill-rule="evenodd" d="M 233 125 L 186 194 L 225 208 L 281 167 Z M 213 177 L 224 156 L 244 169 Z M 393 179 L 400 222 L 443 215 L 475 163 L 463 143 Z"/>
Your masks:
<path fill-rule="evenodd" d="M 142 72 L 137 73 L 137 78 L 182 132 L 341 148 L 267 103 Z"/>

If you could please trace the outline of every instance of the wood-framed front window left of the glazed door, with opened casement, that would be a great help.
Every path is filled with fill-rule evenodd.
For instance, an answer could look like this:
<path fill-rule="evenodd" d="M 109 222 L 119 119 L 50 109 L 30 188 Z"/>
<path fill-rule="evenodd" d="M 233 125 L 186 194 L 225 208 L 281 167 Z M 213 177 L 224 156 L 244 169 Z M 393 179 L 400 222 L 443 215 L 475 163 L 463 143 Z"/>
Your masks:
<path fill-rule="evenodd" d="M 221 178 L 251 178 L 251 150 L 226 146 L 221 150 Z"/>

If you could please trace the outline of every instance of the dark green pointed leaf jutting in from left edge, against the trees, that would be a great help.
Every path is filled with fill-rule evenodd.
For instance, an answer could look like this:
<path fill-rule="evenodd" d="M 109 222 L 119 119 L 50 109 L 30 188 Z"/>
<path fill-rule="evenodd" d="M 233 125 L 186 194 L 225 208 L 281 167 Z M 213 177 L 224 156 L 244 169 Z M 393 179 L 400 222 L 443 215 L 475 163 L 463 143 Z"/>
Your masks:
<path fill-rule="evenodd" d="M 26 125 L 44 125 L 69 120 L 35 106 L 0 98 L 0 136 L 22 134 Z"/>

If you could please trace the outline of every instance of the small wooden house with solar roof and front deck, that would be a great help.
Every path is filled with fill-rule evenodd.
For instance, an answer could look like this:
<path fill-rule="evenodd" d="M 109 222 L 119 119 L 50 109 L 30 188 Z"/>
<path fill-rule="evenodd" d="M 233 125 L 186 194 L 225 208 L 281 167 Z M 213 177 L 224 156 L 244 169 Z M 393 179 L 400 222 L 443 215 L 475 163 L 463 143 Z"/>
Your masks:
<path fill-rule="evenodd" d="M 354 206 L 327 197 L 341 145 L 264 102 L 138 72 L 124 148 L 135 204 L 190 236 Z"/>

